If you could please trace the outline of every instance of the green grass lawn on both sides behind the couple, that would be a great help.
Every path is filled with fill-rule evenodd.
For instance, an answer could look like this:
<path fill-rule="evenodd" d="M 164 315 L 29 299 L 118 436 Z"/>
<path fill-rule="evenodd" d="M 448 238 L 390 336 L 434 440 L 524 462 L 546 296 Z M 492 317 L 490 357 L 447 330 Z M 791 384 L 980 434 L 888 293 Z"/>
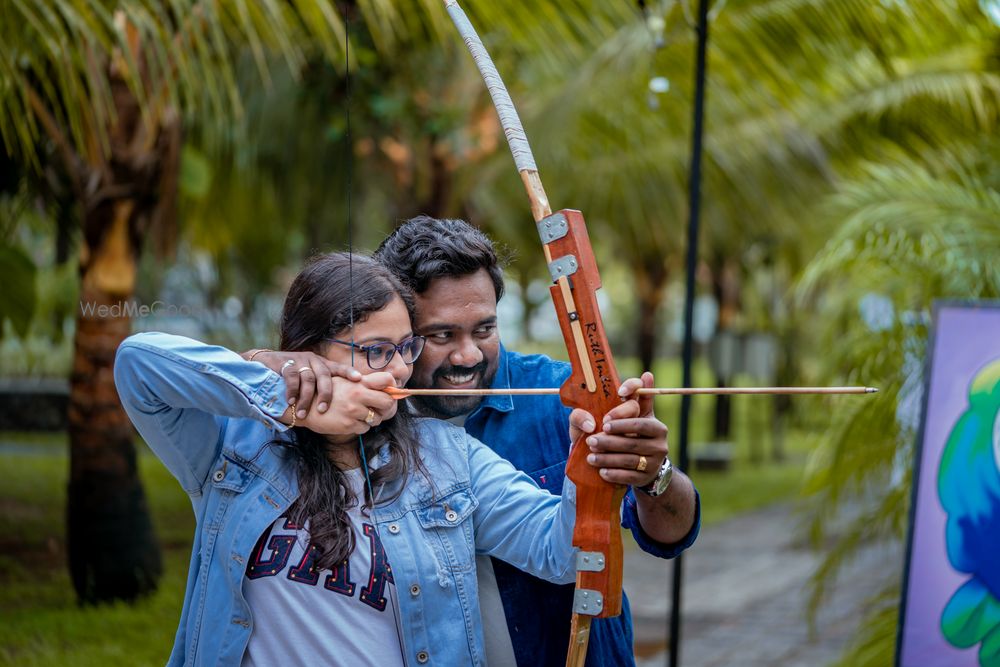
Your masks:
<path fill-rule="evenodd" d="M 705 523 L 797 494 L 805 453 L 816 436 L 792 431 L 784 462 L 751 462 L 748 434 L 760 436 L 760 450 L 771 446 L 769 400 L 738 397 L 734 402 L 738 437 L 729 471 L 692 472 Z M 673 428 L 671 437 L 676 439 L 679 401 L 658 401 L 657 414 Z M 692 442 L 698 443 L 707 439 L 713 403 L 699 398 L 693 405 Z M 159 591 L 131 606 L 81 608 L 66 569 L 66 438 L 0 433 L 0 665 L 131 667 L 166 662 L 180 617 L 194 520 L 176 481 L 139 446 L 140 470 L 164 548 Z"/>

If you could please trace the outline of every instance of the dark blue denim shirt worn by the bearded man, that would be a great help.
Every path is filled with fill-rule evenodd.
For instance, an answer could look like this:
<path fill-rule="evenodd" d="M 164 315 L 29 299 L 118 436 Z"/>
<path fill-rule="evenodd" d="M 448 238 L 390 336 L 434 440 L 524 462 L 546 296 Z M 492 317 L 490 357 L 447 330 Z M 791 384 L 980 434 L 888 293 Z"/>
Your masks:
<path fill-rule="evenodd" d="M 543 355 L 508 352 L 501 347 L 493 387 L 558 387 L 569 374 L 570 366 L 566 362 Z M 559 493 L 572 445 L 569 441 L 570 412 L 558 396 L 487 396 L 466 419 L 465 429 L 519 470 L 527 472 L 543 489 Z M 673 558 L 698 537 L 700 500 L 696 504 L 694 526 L 676 544 L 661 544 L 643 532 L 631 489 L 622 505 L 622 525 L 632 531 L 643 551 L 660 558 Z M 517 664 L 520 667 L 564 664 L 569 646 L 573 586 L 542 581 L 497 560 L 493 566 Z M 589 667 L 634 664 L 632 615 L 627 597 L 623 597 L 620 616 L 594 619 L 586 664 Z"/>

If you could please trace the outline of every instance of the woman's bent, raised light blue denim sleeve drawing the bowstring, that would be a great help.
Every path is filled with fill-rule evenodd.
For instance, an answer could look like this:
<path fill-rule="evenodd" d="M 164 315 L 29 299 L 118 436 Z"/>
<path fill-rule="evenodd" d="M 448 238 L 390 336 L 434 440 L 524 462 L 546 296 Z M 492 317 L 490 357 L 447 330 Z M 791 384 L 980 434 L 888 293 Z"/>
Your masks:
<path fill-rule="evenodd" d="M 288 409 L 281 377 L 235 352 L 183 336 L 142 333 L 118 348 L 115 385 L 140 435 L 197 494 L 218 456 L 225 418 L 277 430 Z"/>

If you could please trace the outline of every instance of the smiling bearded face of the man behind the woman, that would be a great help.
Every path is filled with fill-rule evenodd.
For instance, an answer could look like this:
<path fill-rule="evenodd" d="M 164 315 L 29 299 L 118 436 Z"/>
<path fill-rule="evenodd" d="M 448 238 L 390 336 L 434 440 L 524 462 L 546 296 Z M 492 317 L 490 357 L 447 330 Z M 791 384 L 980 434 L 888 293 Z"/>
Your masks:
<path fill-rule="evenodd" d="M 414 330 L 427 337 L 408 386 L 414 389 L 488 388 L 497 372 L 497 299 L 486 269 L 438 278 L 417 297 Z M 480 396 L 423 396 L 420 407 L 438 417 L 471 412 Z"/>

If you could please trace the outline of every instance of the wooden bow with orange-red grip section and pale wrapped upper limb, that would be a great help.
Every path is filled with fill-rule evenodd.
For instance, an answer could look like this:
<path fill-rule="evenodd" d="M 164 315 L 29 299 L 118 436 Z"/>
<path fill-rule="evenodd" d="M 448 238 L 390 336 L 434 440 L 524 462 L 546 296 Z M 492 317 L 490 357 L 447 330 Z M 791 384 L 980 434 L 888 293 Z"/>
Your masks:
<path fill-rule="evenodd" d="M 587 410 L 600 424 L 604 415 L 621 403 L 617 394 L 621 381 L 597 305 L 600 275 L 583 215 L 573 210 L 552 213 L 524 128 L 500 74 L 457 0 L 444 2 L 489 89 L 542 240 L 553 280 L 550 292 L 572 366 L 559 395 L 564 404 Z M 577 487 L 573 544 L 579 553 L 566 663 L 573 666 L 582 665 L 586 658 L 591 619 L 617 616 L 622 607 L 619 513 L 625 487 L 604 481 L 587 463 L 585 437 L 573 443 L 566 465 L 566 474 Z"/>

